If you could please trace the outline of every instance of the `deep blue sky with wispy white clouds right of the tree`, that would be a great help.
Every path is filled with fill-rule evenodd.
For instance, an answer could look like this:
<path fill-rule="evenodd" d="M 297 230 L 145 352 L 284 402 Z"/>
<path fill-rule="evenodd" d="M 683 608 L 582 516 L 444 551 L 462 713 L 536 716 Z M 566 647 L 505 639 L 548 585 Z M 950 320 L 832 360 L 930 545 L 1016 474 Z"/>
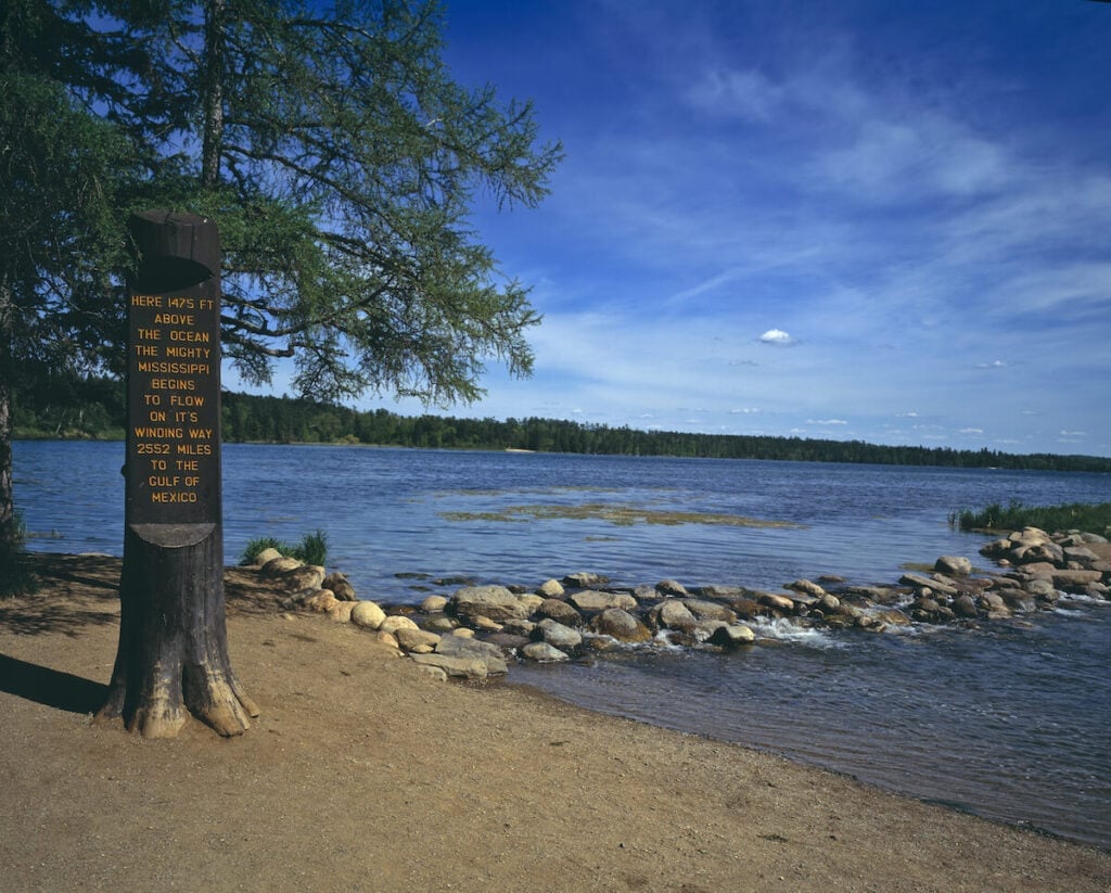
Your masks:
<path fill-rule="evenodd" d="M 1111 455 L 1111 4 L 449 0 L 567 160 L 448 414 Z M 406 413 L 419 403 L 364 401 Z"/>

